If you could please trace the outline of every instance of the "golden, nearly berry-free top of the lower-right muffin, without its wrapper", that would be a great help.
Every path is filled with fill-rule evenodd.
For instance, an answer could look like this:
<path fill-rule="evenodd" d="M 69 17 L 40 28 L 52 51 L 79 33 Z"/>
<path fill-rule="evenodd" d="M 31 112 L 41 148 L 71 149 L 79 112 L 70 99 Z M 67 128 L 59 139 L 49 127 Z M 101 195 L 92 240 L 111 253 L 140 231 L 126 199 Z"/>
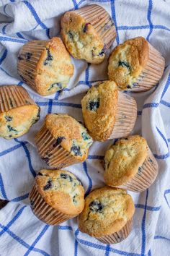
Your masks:
<path fill-rule="evenodd" d="M 109 186 L 122 185 L 140 171 L 147 157 L 146 139 L 133 135 L 118 140 L 104 156 L 104 180 Z"/>

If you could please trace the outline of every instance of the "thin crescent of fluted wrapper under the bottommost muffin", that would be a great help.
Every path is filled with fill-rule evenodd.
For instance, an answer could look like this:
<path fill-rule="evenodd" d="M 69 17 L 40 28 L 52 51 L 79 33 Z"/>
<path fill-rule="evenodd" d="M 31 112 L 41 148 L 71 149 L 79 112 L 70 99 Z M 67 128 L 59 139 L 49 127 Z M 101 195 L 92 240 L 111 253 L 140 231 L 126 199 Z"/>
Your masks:
<path fill-rule="evenodd" d="M 130 220 L 127 221 L 125 226 L 123 226 L 122 229 L 120 229 L 120 231 L 117 231 L 107 236 L 96 237 L 96 238 L 97 240 L 99 240 L 99 242 L 102 242 L 104 244 L 120 243 L 122 240 L 126 239 L 130 234 L 130 231 L 132 230 L 132 223 L 133 223 L 133 218 L 130 218 Z"/>

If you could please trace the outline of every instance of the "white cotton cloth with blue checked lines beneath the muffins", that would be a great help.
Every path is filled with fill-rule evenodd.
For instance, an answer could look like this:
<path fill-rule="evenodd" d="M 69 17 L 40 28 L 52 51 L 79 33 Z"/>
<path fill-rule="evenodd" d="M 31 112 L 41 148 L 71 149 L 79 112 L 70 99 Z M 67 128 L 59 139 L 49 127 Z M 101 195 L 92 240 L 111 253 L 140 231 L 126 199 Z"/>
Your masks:
<path fill-rule="evenodd" d="M 102 64 L 72 58 L 75 72 L 66 89 L 40 97 L 17 74 L 17 53 L 28 40 L 60 36 L 61 14 L 86 4 L 99 4 L 112 16 L 117 38 Z M 41 108 L 41 119 L 27 135 L 14 140 L 0 138 L 0 197 L 10 202 L 0 210 L 0 255 L 169 255 L 170 252 L 170 1 L 166 0 L 1 0 L 0 85 L 22 85 Z M 146 137 L 158 161 L 156 182 L 142 193 L 130 193 L 135 201 L 133 231 L 120 244 L 107 245 L 79 231 L 76 218 L 48 226 L 30 210 L 28 194 L 35 175 L 46 168 L 34 144 L 35 133 L 48 113 L 71 114 L 83 121 L 81 98 L 93 82 L 107 80 L 107 59 L 118 43 L 141 35 L 166 59 L 161 81 L 146 93 L 129 93 L 138 102 L 138 118 L 132 134 Z M 94 142 L 84 163 L 68 171 L 81 179 L 86 195 L 104 185 L 101 161 L 107 142 Z"/>

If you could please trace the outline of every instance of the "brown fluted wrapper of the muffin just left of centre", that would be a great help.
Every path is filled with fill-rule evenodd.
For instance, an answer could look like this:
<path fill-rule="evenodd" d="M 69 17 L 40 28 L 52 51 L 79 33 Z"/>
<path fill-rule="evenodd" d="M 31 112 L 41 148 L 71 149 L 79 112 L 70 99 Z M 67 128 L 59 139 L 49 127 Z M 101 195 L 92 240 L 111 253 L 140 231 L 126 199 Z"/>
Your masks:
<path fill-rule="evenodd" d="M 37 151 L 51 168 L 63 168 L 71 166 L 79 161 L 74 158 L 71 153 L 64 150 L 61 145 L 56 145 L 57 140 L 53 137 L 49 130 L 45 127 L 45 124 L 40 129 L 35 137 L 35 144 L 37 145 Z"/>

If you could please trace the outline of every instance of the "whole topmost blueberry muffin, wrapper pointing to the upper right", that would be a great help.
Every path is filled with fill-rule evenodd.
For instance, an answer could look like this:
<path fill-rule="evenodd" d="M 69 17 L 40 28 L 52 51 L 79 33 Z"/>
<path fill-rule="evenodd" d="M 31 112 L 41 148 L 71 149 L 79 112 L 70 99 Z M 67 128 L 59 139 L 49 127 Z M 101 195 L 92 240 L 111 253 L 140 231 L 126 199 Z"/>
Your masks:
<path fill-rule="evenodd" d="M 115 40 L 116 30 L 105 9 L 91 4 L 63 15 L 61 35 L 74 58 L 99 64 Z"/>

